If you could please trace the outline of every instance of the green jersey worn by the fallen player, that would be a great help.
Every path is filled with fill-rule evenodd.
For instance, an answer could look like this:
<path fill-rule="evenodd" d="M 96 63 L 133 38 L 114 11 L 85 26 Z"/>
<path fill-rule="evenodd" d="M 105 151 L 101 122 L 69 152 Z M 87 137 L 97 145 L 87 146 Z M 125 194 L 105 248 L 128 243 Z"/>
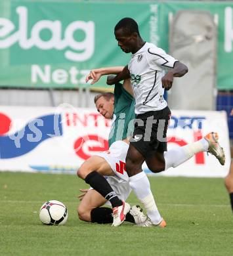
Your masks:
<path fill-rule="evenodd" d="M 108 138 L 108 146 L 117 140 L 123 140 L 133 135 L 133 119 L 135 119 L 135 100 L 125 91 L 121 83 L 114 89 L 114 117 Z"/>

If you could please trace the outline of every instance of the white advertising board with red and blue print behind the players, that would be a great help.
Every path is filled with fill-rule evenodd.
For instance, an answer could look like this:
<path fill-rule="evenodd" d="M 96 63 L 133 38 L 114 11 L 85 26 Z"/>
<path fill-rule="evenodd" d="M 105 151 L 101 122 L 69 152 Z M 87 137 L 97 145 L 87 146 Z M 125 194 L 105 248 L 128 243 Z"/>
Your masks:
<path fill-rule="evenodd" d="M 108 150 L 111 121 L 95 109 L 1 106 L 0 171 L 75 173 L 95 152 Z M 167 176 L 224 177 L 230 165 L 225 112 L 173 110 L 167 131 L 168 150 L 194 142 L 210 131 L 219 133 L 226 153 L 224 166 L 201 152 Z M 149 173 L 146 165 L 144 171 Z"/>

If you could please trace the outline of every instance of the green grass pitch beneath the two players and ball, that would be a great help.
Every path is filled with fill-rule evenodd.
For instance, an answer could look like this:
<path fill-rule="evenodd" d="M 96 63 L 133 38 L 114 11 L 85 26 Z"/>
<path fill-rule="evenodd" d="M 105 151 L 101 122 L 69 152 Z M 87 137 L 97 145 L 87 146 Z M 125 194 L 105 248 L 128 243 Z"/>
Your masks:
<path fill-rule="evenodd" d="M 233 215 L 223 179 L 150 177 L 167 227 L 84 223 L 77 218 L 75 175 L 0 172 L 0 255 L 233 255 Z M 68 207 L 64 226 L 46 226 L 47 200 Z M 129 203 L 137 204 L 131 194 Z"/>

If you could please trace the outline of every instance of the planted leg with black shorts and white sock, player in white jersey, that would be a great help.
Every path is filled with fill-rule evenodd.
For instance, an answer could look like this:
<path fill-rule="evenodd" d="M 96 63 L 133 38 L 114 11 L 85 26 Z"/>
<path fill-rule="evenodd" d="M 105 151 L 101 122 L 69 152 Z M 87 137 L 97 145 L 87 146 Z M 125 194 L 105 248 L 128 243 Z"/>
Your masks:
<path fill-rule="evenodd" d="M 138 115 L 133 139 L 131 140 L 126 158 L 129 184 L 134 190 L 138 200 L 144 204 L 148 217 L 152 223 L 156 225 L 163 223 L 163 219 L 158 211 L 152 191 L 150 190 L 148 177 L 142 172 L 142 163 L 148 156 L 153 156 L 159 146 L 157 139 L 158 128 L 161 129 L 161 135 L 165 138 L 170 114 L 169 108 L 165 108 L 158 112 L 147 112 Z M 163 125 L 159 125 L 159 119 L 163 120 Z M 165 221 L 163 224 L 163 226 L 165 226 Z"/>

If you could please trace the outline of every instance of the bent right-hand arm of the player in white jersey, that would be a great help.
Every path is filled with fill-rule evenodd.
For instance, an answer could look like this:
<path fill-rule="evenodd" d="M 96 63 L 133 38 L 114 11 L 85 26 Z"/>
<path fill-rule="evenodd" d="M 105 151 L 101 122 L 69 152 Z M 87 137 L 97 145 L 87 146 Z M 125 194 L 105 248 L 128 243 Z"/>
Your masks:
<path fill-rule="evenodd" d="M 162 86 L 165 90 L 171 89 L 173 85 L 173 77 L 182 77 L 188 72 L 188 68 L 186 65 L 184 65 L 182 62 L 175 62 L 174 68 L 169 70 L 167 74 L 165 74 L 162 79 Z"/>

